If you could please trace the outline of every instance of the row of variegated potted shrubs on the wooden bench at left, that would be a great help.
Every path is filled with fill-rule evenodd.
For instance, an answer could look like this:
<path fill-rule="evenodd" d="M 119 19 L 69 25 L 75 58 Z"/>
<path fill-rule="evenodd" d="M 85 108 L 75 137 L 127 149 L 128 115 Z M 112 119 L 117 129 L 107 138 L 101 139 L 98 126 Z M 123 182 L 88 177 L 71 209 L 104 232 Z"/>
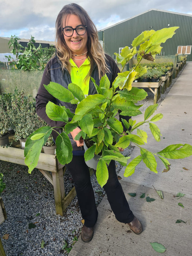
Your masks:
<path fill-rule="evenodd" d="M 20 140 L 25 147 L 25 140 L 31 133 L 42 126 L 47 126 L 44 120 L 37 116 L 35 101 L 30 95 L 15 88 L 14 93 L 0 95 L 0 145 L 9 145 L 8 136 L 14 134 L 14 140 Z M 53 146 L 52 137 L 46 146 Z"/>

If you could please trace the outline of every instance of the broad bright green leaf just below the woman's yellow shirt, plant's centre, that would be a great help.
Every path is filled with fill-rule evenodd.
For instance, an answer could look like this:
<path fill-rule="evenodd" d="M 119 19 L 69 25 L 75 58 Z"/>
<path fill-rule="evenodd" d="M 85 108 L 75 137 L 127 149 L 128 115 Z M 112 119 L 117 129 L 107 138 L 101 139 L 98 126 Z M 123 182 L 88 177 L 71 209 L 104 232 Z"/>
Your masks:
<path fill-rule="evenodd" d="M 105 101 L 105 97 L 100 94 L 89 95 L 83 99 L 75 110 L 75 114 L 84 115 L 91 109 L 94 109 L 95 106 L 101 104 Z"/>

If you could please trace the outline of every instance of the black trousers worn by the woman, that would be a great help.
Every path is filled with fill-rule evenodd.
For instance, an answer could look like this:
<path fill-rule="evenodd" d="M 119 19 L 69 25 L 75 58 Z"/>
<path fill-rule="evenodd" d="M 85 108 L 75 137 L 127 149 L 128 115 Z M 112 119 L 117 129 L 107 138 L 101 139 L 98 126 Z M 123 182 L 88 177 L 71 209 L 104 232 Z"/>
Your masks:
<path fill-rule="evenodd" d="M 84 156 L 73 156 L 72 161 L 66 165 L 75 183 L 79 207 L 86 227 L 93 227 L 97 222 L 98 211 L 95 205 L 95 196 L 90 181 L 89 167 Z M 109 179 L 103 186 L 112 211 L 116 219 L 123 223 L 129 223 L 134 215 L 129 208 L 123 189 L 118 181 L 115 161 L 111 161 L 108 167 Z"/>

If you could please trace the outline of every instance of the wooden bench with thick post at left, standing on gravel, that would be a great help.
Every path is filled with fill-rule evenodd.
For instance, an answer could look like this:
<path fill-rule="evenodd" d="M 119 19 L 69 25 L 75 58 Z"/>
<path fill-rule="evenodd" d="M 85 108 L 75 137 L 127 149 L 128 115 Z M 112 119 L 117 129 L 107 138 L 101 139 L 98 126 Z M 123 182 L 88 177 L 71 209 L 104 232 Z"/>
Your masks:
<path fill-rule="evenodd" d="M 0 147 L 0 160 L 25 165 L 24 150 L 18 147 Z M 75 187 L 65 196 L 63 169 L 56 155 L 40 153 L 37 169 L 53 185 L 56 213 L 63 215 L 67 206 L 76 196 Z M 64 169 L 65 170 L 65 169 Z M 50 174 L 51 172 L 51 174 Z M 33 174 L 31 174 L 33 175 Z"/>

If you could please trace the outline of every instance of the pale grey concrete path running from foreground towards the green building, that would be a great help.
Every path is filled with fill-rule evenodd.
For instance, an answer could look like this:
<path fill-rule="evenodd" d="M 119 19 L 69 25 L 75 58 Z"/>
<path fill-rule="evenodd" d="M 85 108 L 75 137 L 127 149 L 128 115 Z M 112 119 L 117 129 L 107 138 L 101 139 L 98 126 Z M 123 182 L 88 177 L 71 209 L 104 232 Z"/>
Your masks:
<path fill-rule="evenodd" d="M 187 63 L 155 112 L 163 113 L 163 118 L 156 123 L 162 134 L 161 142 L 155 141 L 148 125 L 141 128 L 148 134 L 146 148 L 150 151 L 156 153 L 170 144 L 192 144 L 191 81 L 192 63 Z M 143 116 L 136 117 L 136 120 L 142 121 Z M 139 148 L 135 148 L 130 160 L 139 154 Z M 144 231 L 140 235 L 134 234 L 127 224 L 116 220 L 105 196 L 98 206 L 98 222 L 92 241 L 84 243 L 79 238 L 69 256 L 159 255 L 150 242 L 164 245 L 166 251 L 163 255 L 192 255 L 192 156 L 170 159 L 169 162 L 171 169 L 166 173 L 162 173 L 164 165 L 158 161 L 158 174 L 151 172 L 143 163 L 136 167 L 131 177 L 124 177 L 125 167 L 118 174 L 122 177 L 120 182 L 130 208 L 143 223 Z M 163 192 L 163 199 L 154 188 Z M 174 197 L 178 192 L 185 196 Z M 128 193 L 136 193 L 136 196 L 131 197 Z M 146 198 L 140 198 L 142 193 L 155 201 L 146 202 Z M 178 203 L 182 203 L 184 208 L 178 206 Z M 177 219 L 186 223 L 176 223 Z"/>

